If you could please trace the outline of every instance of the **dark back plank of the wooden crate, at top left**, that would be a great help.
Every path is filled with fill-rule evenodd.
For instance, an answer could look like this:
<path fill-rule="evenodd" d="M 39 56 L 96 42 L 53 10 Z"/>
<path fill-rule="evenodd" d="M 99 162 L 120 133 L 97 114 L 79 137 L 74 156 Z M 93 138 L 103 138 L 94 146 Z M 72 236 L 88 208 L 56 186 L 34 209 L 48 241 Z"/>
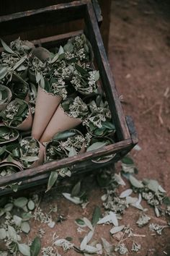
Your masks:
<path fill-rule="evenodd" d="M 18 12 L 0 17 L 0 35 L 22 33 L 47 25 L 59 25 L 64 22 L 81 20 L 84 17 L 86 1 L 73 1 L 51 7 Z M 68 25 L 69 26 L 69 25 Z"/>

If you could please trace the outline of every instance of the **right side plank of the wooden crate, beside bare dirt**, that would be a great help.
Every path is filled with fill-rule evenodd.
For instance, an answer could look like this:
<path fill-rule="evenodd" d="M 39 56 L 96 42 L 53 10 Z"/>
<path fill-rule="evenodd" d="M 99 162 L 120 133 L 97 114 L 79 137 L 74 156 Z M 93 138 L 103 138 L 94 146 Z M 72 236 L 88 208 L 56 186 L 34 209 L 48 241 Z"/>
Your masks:
<path fill-rule="evenodd" d="M 119 96 L 115 88 L 115 82 L 112 77 L 112 72 L 102 43 L 102 37 L 99 33 L 97 19 L 91 3 L 87 4 L 85 22 L 87 27 L 86 33 L 88 33 L 89 40 L 94 49 L 94 55 L 97 58 L 97 65 L 102 77 L 103 88 L 107 95 L 109 108 L 112 111 L 112 117 L 117 127 L 118 139 L 127 140 L 130 138 L 130 133 L 122 111 Z"/>

